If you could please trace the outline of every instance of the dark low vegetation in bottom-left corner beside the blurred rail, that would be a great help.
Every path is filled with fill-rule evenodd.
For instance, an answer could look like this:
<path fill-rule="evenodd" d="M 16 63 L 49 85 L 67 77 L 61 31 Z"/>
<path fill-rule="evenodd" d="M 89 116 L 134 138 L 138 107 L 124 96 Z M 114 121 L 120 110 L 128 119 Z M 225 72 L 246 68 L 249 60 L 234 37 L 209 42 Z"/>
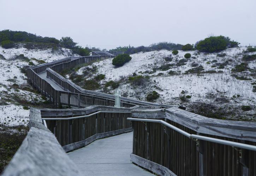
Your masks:
<path fill-rule="evenodd" d="M 25 126 L 8 127 L 11 132 L 2 127 L 0 131 L 0 174 L 4 171 L 5 167 L 9 164 L 12 157 L 19 149 L 23 140 L 28 133 L 29 128 Z"/>

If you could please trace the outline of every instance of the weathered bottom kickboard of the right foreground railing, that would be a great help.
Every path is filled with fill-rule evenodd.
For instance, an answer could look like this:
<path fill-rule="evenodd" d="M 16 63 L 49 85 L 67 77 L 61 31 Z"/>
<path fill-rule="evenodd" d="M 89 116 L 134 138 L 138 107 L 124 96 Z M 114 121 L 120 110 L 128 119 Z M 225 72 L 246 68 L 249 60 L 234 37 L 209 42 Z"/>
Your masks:
<path fill-rule="evenodd" d="M 133 155 L 131 153 L 131 162 L 138 164 L 139 166 L 146 168 L 161 176 L 176 176 L 171 170 L 160 164 L 149 161 L 145 158 Z"/>

